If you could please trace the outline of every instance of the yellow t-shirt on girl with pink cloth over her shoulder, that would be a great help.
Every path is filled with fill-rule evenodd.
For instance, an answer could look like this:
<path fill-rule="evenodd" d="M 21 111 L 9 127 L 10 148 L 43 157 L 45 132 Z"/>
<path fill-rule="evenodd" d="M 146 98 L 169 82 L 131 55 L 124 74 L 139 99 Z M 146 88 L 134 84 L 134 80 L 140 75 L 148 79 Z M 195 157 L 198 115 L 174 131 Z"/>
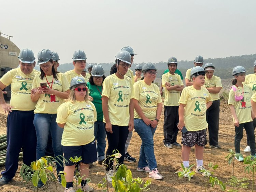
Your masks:
<path fill-rule="evenodd" d="M 229 97 L 228 97 L 228 104 L 234 105 L 236 115 L 238 118 L 239 123 L 246 123 L 252 121 L 252 104 L 251 104 L 251 97 L 253 96 L 253 91 L 249 85 L 243 84 L 242 87 L 238 87 L 239 91 L 242 93 L 244 88 L 244 101 L 245 107 L 242 106 L 242 101 L 235 101 L 234 99 L 234 90 L 230 89 Z M 234 122 L 234 117 L 233 117 Z"/>

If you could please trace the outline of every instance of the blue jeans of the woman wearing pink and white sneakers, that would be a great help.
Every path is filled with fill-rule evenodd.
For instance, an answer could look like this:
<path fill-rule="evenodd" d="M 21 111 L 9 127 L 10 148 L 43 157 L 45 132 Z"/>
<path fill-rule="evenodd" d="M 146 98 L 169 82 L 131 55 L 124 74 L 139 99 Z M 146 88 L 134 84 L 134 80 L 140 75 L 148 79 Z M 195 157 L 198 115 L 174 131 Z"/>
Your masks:
<path fill-rule="evenodd" d="M 142 140 L 138 167 L 148 166 L 152 171 L 154 168 L 157 168 L 153 140 L 156 128 L 146 125 L 142 119 L 134 119 L 134 129 Z"/>

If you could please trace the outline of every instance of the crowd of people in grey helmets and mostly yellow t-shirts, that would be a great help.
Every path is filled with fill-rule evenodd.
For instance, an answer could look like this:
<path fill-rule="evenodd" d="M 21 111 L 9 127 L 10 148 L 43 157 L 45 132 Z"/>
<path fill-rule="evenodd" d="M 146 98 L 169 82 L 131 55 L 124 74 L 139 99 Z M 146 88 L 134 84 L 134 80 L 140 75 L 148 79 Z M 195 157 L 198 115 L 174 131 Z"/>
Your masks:
<path fill-rule="evenodd" d="M 206 63 L 202 68 L 204 60 L 198 55 L 194 67 L 186 72 L 184 87 L 183 76 L 177 69 L 178 61 L 170 57 L 159 89 L 154 84 L 158 69 L 153 63 L 136 65 L 133 74 L 130 68 L 134 55 L 130 46 L 123 47 L 116 54 L 115 64 L 106 77 L 104 66 L 98 64 L 88 64 L 87 73 L 87 57 L 83 50 L 74 51 L 74 69 L 63 74 L 58 72 L 58 53 L 43 49 L 35 63 L 33 51 L 22 49 L 18 56 L 19 67 L 0 79 L 0 104 L 8 113 L 8 147 L 0 185 L 15 176 L 21 148 L 23 162 L 30 166 L 32 161 L 45 157 L 50 146 L 53 156 L 66 159 L 65 164 L 63 161 L 56 163 L 57 182 L 61 183 L 60 173 L 66 173 L 65 191 L 75 191 L 72 181 L 76 166 L 82 176 L 81 189 L 93 191 L 87 183 L 93 162 L 98 161 L 105 166 L 106 180 L 111 183 L 111 177 L 118 169 L 110 157 L 113 153 L 119 151 L 121 154 L 117 158 L 118 164 L 136 161 L 128 152 L 133 129 L 141 138 L 137 171 L 146 172 L 153 179 L 163 179 L 157 168 L 153 138 L 161 116 L 163 89 L 163 146 L 169 149 L 182 147 L 185 167 L 189 167 L 190 149 L 195 146 L 196 173 L 209 176 L 203 166 L 207 127 L 209 147 L 221 148 L 218 131 L 222 83 L 213 75 L 214 65 Z M 40 67 L 40 71 L 34 69 L 35 65 Z M 255 66 L 256 62 L 254 70 Z M 245 76 L 245 73 L 242 66 L 233 69 L 233 86 L 228 100 L 236 133 L 234 147 L 239 154 L 236 156 L 238 161 L 243 161 L 240 153 L 243 129 L 247 133 L 244 152 L 251 152 L 256 157 L 256 75 Z M 9 85 L 12 91 L 10 105 L 5 103 L 2 93 Z M 179 131 L 182 132 L 181 143 L 177 141 Z M 70 158 L 75 156 L 82 157 L 82 160 L 74 164 Z M 43 186 L 39 180 L 38 187 Z"/>

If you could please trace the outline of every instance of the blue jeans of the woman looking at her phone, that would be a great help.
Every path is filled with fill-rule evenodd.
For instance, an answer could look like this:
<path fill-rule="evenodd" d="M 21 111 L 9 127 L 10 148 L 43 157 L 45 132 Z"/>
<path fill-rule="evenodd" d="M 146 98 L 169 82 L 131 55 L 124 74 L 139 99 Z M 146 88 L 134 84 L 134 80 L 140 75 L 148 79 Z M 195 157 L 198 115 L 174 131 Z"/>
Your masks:
<path fill-rule="evenodd" d="M 56 123 L 57 114 L 36 113 L 34 116 L 35 132 L 37 133 L 37 160 L 45 156 L 48 135 L 51 133 L 54 156 L 63 156 L 61 137 L 63 129 Z M 56 162 L 57 173 L 63 171 L 63 161 Z"/>

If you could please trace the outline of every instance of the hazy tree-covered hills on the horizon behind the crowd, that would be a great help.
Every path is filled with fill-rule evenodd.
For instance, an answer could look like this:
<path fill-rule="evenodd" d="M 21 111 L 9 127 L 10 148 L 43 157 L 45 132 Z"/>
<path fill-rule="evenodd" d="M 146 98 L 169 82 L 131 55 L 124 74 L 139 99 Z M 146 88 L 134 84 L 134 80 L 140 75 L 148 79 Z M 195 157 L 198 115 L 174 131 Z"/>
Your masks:
<path fill-rule="evenodd" d="M 136 57 L 134 58 L 134 60 L 136 61 Z M 203 63 L 204 64 L 208 63 L 208 62 L 213 63 L 213 65 L 215 66 L 214 75 L 220 77 L 221 79 L 229 79 L 229 78 L 232 78 L 232 69 L 234 67 L 236 67 L 237 65 L 243 66 L 246 69 L 247 74 L 254 73 L 255 60 L 256 60 L 256 54 L 231 56 L 231 57 L 215 58 L 215 59 L 208 58 L 208 59 L 204 59 Z M 88 64 L 89 63 L 87 63 L 87 65 Z M 110 68 L 112 67 L 112 65 L 114 63 L 92 63 L 92 64 L 102 65 L 105 70 L 105 75 L 108 76 L 110 74 Z M 142 66 L 143 66 L 144 63 L 133 63 L 131 70 L 134 71 L 134 68 L 137 64 L 142 64 Z M 158 69 L 157 77 L 161 78 L 163 71 L 165 71 L 167 69 L 167 62 L 161 61 L 159 63 L 154 63 L 154 64 L 155 64 L 156 68 Z M 204 66 L 204 64 L 203 64 L 203 66 Z M 187 69 L 192 68 L 192 67 L 194 67 L 194 61 L 181 60 L 178 62 L 178 69 L 182 72 L 182 75 L 184 78 L 185 78 Z M 64 64 L 60 64 L 58 71 L 64 73 L 64 72 L 72 70 L 72 69 L 74 69 L 72 63 L 64 63 Z M 39 70 L 39 68 L 37 70 Z"/>

